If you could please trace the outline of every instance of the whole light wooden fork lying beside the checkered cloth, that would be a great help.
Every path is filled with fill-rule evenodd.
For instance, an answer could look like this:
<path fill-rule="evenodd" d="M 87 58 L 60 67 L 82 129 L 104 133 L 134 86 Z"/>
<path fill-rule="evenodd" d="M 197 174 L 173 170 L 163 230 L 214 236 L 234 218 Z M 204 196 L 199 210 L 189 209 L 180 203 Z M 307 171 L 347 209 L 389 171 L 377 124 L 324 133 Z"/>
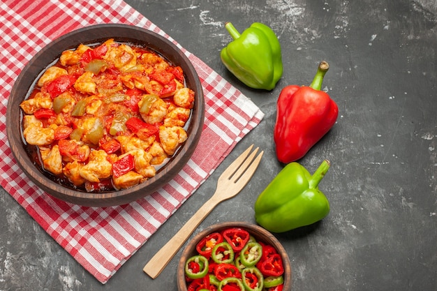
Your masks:
<path fill-rule="evenodd" d="M 228 168 L 218 177 L 216 192 L 202 207 L 185 223 L 185 225 L 175 234 L 170 241 L 165 244 L 145 265 L 143 271 L 151 278 L 156 278 L 167 266 L 168 262 L 176 255 L 179 248 L 193 234 L 196 227 L 207 217 L 207 215 L 224 200 L 234 197 L 249 182 L 256 168 L 258 167 L 262 154 L 255 155 L 258 147 L 249 155 L 253 148 L 246 149 Z"/>

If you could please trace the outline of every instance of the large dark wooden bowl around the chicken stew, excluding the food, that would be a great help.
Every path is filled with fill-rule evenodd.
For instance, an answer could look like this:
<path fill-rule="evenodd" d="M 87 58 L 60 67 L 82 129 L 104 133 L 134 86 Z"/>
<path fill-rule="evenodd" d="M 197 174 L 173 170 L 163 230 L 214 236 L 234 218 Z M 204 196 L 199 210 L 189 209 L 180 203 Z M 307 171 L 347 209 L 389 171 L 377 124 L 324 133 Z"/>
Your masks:
<path fill-rule="evenodd" d="M 87 193 L 61 186 L 56 181 L 52 181 L 31 161 L 27 154 L 22 134 L 20 134 L 22 133 L 20 103 L 29 96 L 43 70 L 53 64 L 59 58 L 61 52 L 74 49 L 80 43 L 91 45 L 102 43 L 108 40 L 108 38 L 114 38 L 114 40 L 123 43 L 149 47 L 158 52 L 158 54 L 161 54 L 165 59 L 168 59 L 172 64 L 181 66 L 184 70 L 186 86 L 195 91 L 195 105 L 187 129 L 188 139 L 179 148 L 177 154 L 156 172 L 155 177 L 126 190 L 107 193 Z M 182 167 L 186 165 L 198 144 L 204 117 L 205 100 L 202 84 L 193 64 L 174 43 L 163 36 L 159 36 L 157 33 L 139 27 L 125 24 L 99 24 L 78 29 L 57 38 L 57 40 L 45 46 L 29 61 L 29 64 L 24 67 L 10 92 L 6 112 L 6 128 L 10 149 L 15 156 L 15 160 L 29 179 L 34 181 L 36 185 L 50 195 L 66 202 L 84 206 L 105 207 L 126 204 L 150 195 L 175 177 L 182 170 Z"/>

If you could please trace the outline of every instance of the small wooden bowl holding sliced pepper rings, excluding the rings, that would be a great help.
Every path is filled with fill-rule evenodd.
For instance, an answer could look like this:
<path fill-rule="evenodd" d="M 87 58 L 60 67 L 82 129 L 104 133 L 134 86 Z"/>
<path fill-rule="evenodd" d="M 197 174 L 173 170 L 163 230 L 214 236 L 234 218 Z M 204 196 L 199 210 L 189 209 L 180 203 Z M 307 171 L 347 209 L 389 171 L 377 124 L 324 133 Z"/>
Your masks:
<path fill-rule="evenodd" d="M 195 246 L 199 243 L 199 241 L 206 237 L 208 234 L 212 232 L 221 232 L 227 228 L 230 227 L 239 227 L 244 230 L 247 230 L 249 234 L 251 234 L 253 237 L 255 237 L 256 241 L 262 241 L 265 244 L 269 244 L 276 248 L 276 251 L 281 255 L 283 267 L 284 267 L 284 283 L 283 283 L 283 291 L 291 291 L 291 285 L 292 285 L 292 271 L 291 271 L 291 264 L 290 259 L 288 258 L 288 254 L 286 250 L 283 248 L 281 243 L 274 237 L 274 235 L 264 228 L 254 225 L 251 223 L 244 223 L 244 222 L 226 222 L 226 223 L 218 223 L 216 225 L 212 225 L 210 227 L 205 228 L 205 230 L 202 230 L 202 232 L 199 232 L 198 234 L 191 239 L 191 241 L 188 242 L 186 245 L 186 248 L 182 252 L 181 258 L 179 260 L 179 265 L 177 267 L 177 290 L 179 291 L 187 291 L 187 285 L 185 281 L 185 262 L 189 258 L 191 258 L 193 255 L 197 255 L 197 251 L 195 250 Z"/>

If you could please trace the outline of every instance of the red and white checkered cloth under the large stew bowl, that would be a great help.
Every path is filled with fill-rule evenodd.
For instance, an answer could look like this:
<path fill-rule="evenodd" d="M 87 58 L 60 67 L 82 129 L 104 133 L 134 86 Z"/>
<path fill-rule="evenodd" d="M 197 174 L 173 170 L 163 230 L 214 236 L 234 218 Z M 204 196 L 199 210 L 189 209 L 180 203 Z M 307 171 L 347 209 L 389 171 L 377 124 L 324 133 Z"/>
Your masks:
<path fill-rule="evenodd" d="M 119 207 L 81 207 L 47 195 L 20 170 L 6 138 L 6 106 L 20 71 L 42 47 L 91 24 L 124 23 L 174 41 L 122 0 L 3 0 L 0 3 L 1 186 L 77 262 L 105 283 L 184 201 L 264 114 L 195 55 L 188 56 L 202 81 L 205 130 L 193 158 L 167 186 Z"/>

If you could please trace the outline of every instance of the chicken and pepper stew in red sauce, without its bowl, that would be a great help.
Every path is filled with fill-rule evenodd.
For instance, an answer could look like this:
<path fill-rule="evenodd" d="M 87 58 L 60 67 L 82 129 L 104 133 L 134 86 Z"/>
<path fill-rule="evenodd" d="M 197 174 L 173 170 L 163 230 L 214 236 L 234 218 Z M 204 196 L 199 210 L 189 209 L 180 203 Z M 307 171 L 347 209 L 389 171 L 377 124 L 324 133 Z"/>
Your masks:
<path fill-rule="evenodd" d="M 20 105 L 22 134 L 66 186 L 114 191 L 154 177 L 175 154 L 194 102 L 182 68 L 109 39 L 66 50 L 45 70 Z"/>

